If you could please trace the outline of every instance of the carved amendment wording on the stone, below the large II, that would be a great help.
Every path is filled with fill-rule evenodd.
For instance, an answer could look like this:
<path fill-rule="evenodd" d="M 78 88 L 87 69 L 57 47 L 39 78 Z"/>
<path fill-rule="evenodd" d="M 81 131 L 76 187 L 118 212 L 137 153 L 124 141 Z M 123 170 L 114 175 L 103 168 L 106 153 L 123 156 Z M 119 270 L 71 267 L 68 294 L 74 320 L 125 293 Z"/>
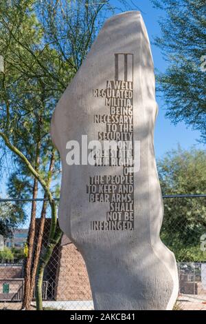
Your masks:
<path fill-rule="evenodd" d="M 95 124 L 105 124 L 106 131 L 98 132 L 98 141 L 115 141 L 113 150 L 95 152 L 95 167 L 122 166 L 121 175 L 90 176 L 87 184 L 89 203 L 108 205 L 104 220 L 91 221 L 91 230 L 134 229 L 133 174 L 133 82 L 106 81 L 106 89 L 93 89 L 94 98 L 102 98 L 108 114 L 95 114 Z M 115 170 L 115 169 L 112 169 Z"/>

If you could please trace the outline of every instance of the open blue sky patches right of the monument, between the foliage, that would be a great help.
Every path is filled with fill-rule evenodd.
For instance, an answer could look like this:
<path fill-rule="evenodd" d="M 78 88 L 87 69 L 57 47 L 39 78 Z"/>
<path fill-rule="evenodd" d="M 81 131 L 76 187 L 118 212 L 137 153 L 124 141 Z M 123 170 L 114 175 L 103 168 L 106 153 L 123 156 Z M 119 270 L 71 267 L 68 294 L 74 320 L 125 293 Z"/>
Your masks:
<path fill-rule="evenodd" d="M 111 0 L 111 3 L 115 4 L 118 1 Z M 130 3 L 130 1 L 128 1 Z M 167 67 L 167 63 L 163 59 L 163 55 L 157 46 L 152 45 L 152 40 L 155 36 L 161 33 L 159 28 L 159 19 L 164 17 L 165 12 L 157 10 L 152 7 L 150 0 L 134 0 L 136 6 L 141 10 L 142 17 L 148 30 L 148 35 L 152 47 L 152 56 L 155 63 L 155 69 L 163 72 Z M 179 143 L 182 148 L 190 148 L 192 145 L 196 145 L 196 148 L 203 148 L 203 145 L 197 143 L 197 139 L 200 138 L 200 133 L 191 128 L 186 128 L 184 123 L 178 125 L 172 125 L 170 119 L 165 119 L 165 108 L 163 108 L 164 102 L 157 97 L 157 103 L 159 104 L 159 114 L 155 127 L 155 155 L 160 158 L 171 150 L 176 148 Z"/>

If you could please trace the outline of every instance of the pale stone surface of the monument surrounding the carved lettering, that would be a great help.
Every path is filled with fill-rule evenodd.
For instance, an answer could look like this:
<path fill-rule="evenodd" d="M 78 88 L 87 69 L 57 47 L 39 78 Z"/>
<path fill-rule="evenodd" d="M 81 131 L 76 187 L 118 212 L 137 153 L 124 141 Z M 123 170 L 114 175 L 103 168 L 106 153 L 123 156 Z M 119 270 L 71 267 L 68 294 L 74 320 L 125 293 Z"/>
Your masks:
<path fill-rule="evenodd" d="M 97 140 L 98 132 L 106 132 L 104 123 L 93 123 L 94 114 L 109 113 L 104 99 L 93 98 L 93 89 L 106 88 L 106 81 L 114 79 L 116 53 L 133 54 L 133 139 L 141 148 L 140 170 L 134 174 L 134 230 L 91 230 L 91 221 L 106 220 L 109 203 L 89 203 L 89 176 L 122 174 L 122 166 L 69 166 L 66 144 L 81 143 L 82 134 Z M 117 14 L 104 23 L 62 94 L 51 128 L 62 161 L 59 223 L 87 265 L 95 310 L 171 310 L 176 301 L 176 261 L 159 237 L 163 200 L 153 145 L 156 116 L 154 66 L 144 21 L 137 11 Z"/>

